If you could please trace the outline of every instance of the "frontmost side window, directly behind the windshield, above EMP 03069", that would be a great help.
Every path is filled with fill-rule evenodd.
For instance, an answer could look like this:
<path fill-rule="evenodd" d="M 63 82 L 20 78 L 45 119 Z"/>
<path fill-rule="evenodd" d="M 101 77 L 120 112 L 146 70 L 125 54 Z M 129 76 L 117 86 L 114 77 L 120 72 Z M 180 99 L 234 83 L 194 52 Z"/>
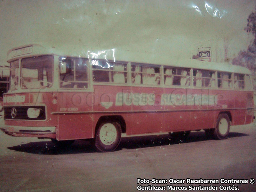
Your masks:
<path fill-rule="evenodd" d="M 87 59 L 67 57 L 60 61 L 60 88 L 88 88 Z"/>

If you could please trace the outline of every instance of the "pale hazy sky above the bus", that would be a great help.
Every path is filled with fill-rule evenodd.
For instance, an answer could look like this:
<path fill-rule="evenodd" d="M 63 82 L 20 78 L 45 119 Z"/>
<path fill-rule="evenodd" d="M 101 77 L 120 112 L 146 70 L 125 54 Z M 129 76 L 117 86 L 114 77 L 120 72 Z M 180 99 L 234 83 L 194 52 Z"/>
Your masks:
<path fill-rule="evenodd" d="M 7 51 L 37 43 L 65 55 L 114 51 L 138 57 L 190 59 L 211 47 L 231 61 L 253 36 L 244 31 L 255 1 L 0 1 L 0 65 Z M 141 58 L 140 58 L 141 60 Z"/>

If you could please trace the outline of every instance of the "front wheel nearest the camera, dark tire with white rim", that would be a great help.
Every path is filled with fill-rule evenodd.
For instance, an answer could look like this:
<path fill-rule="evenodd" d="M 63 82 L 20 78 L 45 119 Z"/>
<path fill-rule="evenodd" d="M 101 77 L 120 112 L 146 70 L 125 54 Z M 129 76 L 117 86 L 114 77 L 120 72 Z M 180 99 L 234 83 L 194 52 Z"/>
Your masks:
<path fill-rule="evenodd" d="M 121 141 L 121 127 L 113 121 L 104 121 L 95 134 L 95 148 L 100 152 L 114 151 Z"/>

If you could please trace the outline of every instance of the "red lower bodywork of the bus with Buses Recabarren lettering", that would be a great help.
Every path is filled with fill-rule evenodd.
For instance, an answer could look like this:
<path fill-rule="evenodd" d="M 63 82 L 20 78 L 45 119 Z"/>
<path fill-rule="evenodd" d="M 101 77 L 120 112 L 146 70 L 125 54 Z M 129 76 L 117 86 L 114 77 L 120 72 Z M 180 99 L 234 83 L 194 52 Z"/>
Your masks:
<path fill-rule="evenodd" d="M 124 118 L 127 135 L 213 128 L 222 112 L 230 114 L 232 125 L 253 120 L 251 91 L 94 85 L 94 92 L 20 93 L 4 97 L 16 95 L 25 96 L 25 101 L 5 99 L 4 105 L 45 105 L 46 120 L 5 120 L 5 125 L 56 127 L 56 134 L 50 136 L 17 136 L 93 138 L 99 118 L 115 115 Z"/>

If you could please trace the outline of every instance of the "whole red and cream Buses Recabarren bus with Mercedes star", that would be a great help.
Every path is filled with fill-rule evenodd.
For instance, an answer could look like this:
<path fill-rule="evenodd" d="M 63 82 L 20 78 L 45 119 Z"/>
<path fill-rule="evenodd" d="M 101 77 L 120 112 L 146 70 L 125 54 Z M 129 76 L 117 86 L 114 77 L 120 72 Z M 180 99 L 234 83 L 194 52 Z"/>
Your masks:
<path fill-rule="evenodd" d="M 107 152 L 123 136 L 185 138 L 190 131 L 204 130 L 222 140 L 230 125 L 253 121 L 247 68 L 101 53 L 82 57 L 39 44 L 11 49 L 1 130 L 48 138 L 58 146 L 91 140 L 98 151 Z"/>

